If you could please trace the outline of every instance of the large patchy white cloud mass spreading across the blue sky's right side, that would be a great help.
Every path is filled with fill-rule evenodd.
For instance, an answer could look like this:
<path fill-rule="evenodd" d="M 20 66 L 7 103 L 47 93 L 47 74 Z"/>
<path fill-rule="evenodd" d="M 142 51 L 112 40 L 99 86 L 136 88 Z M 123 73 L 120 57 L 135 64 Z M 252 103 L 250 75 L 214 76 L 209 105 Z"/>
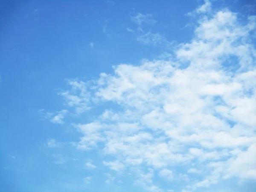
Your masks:
<path fill-rule="evenodd" d="M 184 192 L 228 178 L 256 179 L 256 18 L 240 23 L 228 9 L 207 15 L 209 6 L 206 1 L 197 9 L 206 15 L 172 60 L 119 64 L 114 74 L 101 73 L 90 91 L 72 80 L 72 90 L 61 93 L 79 113 L 99 102 L 119 105 L 74 125 L 81 134 L 76 146 L 103 146 L 114 158 L 106 166 L 134 172 L 134 183 L 151 192 L 164 190 L 154 183 L 155 173 L 185 181 Z M 137 17 L 137 24 L 145 18 Z M 106 183 L 114 180 L 107 176 Z"/>

